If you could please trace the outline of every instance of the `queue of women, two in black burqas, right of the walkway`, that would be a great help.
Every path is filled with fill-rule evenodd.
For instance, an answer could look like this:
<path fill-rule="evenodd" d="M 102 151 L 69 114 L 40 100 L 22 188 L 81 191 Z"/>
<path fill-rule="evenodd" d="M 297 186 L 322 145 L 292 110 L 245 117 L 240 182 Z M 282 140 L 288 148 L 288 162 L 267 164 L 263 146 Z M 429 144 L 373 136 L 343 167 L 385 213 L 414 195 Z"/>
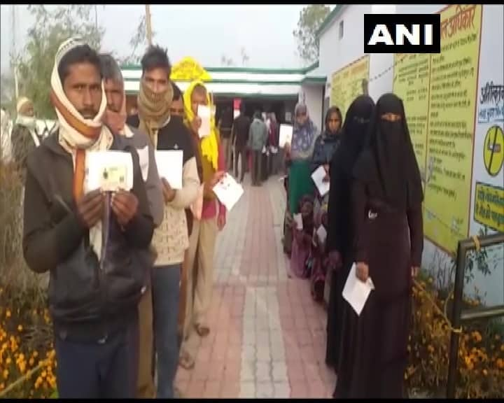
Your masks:
<path fill-rule="evenodd" d="M 325 362 L 337 372 L 334 397 L 404 397 L 423 189 L 402 100 L 384 94 L 375 105 L 360 95 L 344 122 L 339 108 L 329 108 L 322 134 L 298 104 L 286 164 L 290 271 L 310 279 L 317 301 L 330 276 Z M 319 167 L 327 195 L 311 180 Z M 342 297 L 353 264 L 358 280 L 374 284 L 360 316 Z"/>

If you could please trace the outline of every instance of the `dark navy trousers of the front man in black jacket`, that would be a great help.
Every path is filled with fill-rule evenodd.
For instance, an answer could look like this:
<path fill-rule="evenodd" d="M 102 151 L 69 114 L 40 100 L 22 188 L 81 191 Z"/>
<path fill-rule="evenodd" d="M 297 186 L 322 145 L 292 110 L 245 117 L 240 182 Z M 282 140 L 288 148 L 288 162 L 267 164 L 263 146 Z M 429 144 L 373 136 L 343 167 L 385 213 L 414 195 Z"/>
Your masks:
<path fill-rule="evenodd" d="M 134 399 L 138 372 L 138 320 L 106 341 L 82 343 L 55 336 L 59 397 Z"/>

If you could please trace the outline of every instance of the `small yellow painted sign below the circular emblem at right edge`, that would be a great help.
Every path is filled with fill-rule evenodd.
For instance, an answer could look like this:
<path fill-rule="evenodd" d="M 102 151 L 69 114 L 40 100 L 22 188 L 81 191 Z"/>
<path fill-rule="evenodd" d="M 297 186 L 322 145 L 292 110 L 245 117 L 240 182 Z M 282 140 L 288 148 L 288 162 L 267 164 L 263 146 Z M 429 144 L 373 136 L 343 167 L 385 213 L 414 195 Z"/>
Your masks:
<path fill-rule="evenodd" d="M 504 232 L 504 188 L 476 183 L 474 220 Z"/>

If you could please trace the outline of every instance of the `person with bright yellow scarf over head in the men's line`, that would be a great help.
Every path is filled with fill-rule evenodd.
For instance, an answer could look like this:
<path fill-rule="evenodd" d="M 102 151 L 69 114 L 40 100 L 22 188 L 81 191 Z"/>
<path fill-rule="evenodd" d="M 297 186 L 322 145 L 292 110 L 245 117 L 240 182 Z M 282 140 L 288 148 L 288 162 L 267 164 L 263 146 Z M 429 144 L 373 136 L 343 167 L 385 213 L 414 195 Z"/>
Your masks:
<path fill-rule="evenodd" d="M 202 120 L 197 115 L 198 106 L 211 107 L 211 99 L 204 83 L 193 81 L 184 92 L 183 101 L 185 123 L 198 145 L 197 160 L 201 166 L 199 171 L 204 184 L 201 220 L 193 221 L 188 251 L 188 299 L 181 352 L 181 362 L 185 365 L 195 357 L 195 351 L 190 351 L 193 344 L 186 342 L 193 336 L 193 330 L 199 337 L 207 337 L 210 333 L 208 311 L 214 288 L 215 245 L 218 231 L 225 226 L 226 211 L 223 204 L 216 199 L 213 190 L 225 174 L 225 157 L 213 118 L 210 120 L 209 135 L 203 139 L 198 135 L 202 125 Z"/>

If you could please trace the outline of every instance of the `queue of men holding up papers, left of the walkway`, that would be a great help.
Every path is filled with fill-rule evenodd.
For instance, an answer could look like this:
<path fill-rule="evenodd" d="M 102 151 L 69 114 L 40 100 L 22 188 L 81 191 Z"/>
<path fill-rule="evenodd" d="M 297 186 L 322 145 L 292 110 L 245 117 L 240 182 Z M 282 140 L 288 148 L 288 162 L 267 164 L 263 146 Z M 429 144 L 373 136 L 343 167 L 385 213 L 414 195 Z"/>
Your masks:
<path fill-rule="evenodd" d="M 212 190 L 225 172 L 214 119 L 209 136 L 197 134 L 197 107 L 211 97 L 199 81 L 182 94 L 158 46 L 141 66 L 137 113 L 127 116 L 116 60 L 64 41 L 50 77 L 58 126 L 26 158 L 23 251 L 31 270 L 50 273 L 63 398 L 173 398 L 177 367 L 194 365 L 186 341 L 211 332 L 226 222 Z M 26 101 L 19 109 L 30 112 Z M 87 188 L 95 150 L 131 155 L 132 190 Z M 181 188 L 158 174 L 156 150 L 183 151 Z"/>

